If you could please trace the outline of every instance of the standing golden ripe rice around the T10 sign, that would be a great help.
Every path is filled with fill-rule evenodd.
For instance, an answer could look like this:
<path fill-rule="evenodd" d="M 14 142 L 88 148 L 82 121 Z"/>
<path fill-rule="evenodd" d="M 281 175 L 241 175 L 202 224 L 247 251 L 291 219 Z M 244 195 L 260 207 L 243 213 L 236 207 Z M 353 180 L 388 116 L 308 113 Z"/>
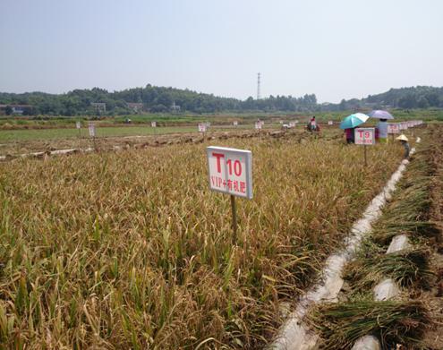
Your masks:
<path fill-rule="evenodd" d="M 398 145 L 260 138 L 254 199 L 209 192 L 207 143 L 19 159 L 0 171 L 0 344 L 255 348 L 280 302 L 398 165 Z"/>

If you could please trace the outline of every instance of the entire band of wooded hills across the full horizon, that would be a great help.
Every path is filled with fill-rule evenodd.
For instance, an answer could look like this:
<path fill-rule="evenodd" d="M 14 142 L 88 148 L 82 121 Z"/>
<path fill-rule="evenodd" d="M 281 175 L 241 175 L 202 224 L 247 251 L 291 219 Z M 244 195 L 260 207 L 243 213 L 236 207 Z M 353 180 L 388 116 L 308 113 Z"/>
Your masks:
<path fill-rule="evenodd" d="M 318 104 L 314 94 L 300 98 L 221 98 L 192 90 L 156 87 L 109 92 L 94 88 L 65 94 L 0 92 L 0 113 L 23 115 L 127 115 L 132 113 L 217 113 L 217 112 L 314 112 L 365 108 L 443 107 L 443 88 L 417 86 L 391 89 L 367 98 L 343 99 L 339 104 Z"/>

